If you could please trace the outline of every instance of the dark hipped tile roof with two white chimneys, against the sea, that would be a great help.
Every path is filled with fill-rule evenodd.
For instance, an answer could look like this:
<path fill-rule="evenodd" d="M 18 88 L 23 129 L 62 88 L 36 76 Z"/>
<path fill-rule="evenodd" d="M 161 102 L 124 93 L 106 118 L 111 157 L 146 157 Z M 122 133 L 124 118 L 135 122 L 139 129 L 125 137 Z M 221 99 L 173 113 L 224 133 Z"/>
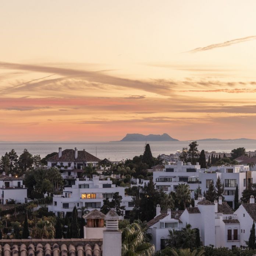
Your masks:
<path fill-rule="evenodd" d="M 50 162 L 99 162 L 100 159 L 92 154 L 86 152 L 85 150 L 78 150 L 77 158 L 75 158 L 74 149 L 65 149 L 62 151 L 62 156 L 58 157 L 58 153 L 47 159 Z"/>

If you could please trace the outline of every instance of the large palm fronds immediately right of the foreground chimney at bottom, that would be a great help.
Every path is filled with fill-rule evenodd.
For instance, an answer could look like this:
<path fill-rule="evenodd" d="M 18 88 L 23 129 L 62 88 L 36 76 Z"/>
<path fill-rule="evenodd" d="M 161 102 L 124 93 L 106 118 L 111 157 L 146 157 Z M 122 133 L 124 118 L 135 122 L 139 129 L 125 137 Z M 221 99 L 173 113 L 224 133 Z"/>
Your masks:
<path fill-rule="evenodd" d="M 139 224 L 132 223 L 122 230 L 122 256 L 153 256 L 154 250 L 154 245 L 145 242 Z"/>

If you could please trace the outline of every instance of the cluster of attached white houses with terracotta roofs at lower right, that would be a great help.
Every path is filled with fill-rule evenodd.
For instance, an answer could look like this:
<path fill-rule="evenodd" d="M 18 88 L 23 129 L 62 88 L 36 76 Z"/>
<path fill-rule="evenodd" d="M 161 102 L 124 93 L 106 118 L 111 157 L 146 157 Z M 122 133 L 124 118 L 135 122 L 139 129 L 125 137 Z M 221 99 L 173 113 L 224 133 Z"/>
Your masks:
<path fill-rule="evenodd" d="M 156 217 L 147 223 L 147 232 L 152 234 L 151 242 L 156 250 L 160 250 L 165 247 L 169 230 L 181 230 L 186 224 L 191 224 L 192 228 L 199 229 L 203 245 L 232 249 L 243 246 L 248 241 L 253 217 L 246 217 L 253 210 L 255 218 L 254 203 L 241 205 L 234 214 L 230 206 L 222 202 L 221 197 L 214 203 L 200 197 L 195 200 L 195 207 L 188 207 L 184 211 L 160 211 L 160 205 L 157 205 Z M 245 223 L 246 220 L 250 220 L 249 223 Z M 247 232 L 243 232 L 244 229 Z"/>

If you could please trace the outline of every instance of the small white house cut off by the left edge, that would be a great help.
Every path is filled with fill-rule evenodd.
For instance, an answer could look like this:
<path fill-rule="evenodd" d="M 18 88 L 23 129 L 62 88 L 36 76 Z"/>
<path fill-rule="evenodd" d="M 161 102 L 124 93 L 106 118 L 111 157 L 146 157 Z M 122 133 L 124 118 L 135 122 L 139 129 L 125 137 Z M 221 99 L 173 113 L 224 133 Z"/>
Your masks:
<path fill-rule="evenodd" d="M 25 203 L 27 200 L 27 190 L 25 185 L 23 185 L 23 178 L 12 177 L 11 174 L 6 175 L 5 172 L 0 175 L 1 204 L 6 205 L 11 200 Z"/>

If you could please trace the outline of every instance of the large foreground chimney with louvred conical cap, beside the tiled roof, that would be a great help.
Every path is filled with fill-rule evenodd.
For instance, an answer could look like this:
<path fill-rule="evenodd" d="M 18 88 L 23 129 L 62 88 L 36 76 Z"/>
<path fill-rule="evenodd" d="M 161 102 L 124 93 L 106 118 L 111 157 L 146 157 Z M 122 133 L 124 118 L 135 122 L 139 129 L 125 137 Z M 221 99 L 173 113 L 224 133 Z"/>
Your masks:
<path fill-rule="evenodd" d="M 103 256 L 122 254 L 122 232 L 118 230 L 119 216 L 111 209 L 105 217 L 106 230 L 103 231 Z"/>

